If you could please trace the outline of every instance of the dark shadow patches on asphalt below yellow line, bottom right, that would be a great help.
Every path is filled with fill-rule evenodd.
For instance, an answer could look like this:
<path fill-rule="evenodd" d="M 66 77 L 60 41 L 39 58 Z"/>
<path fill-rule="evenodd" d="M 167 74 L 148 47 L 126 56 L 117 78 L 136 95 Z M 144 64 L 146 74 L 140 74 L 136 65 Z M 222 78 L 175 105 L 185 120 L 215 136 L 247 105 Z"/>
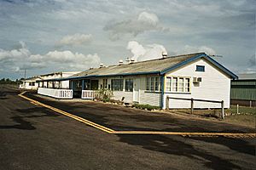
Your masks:
<path fill-rule="evenodd" d="M 212 155 L 209 152 L 195 148 L 193 144 L 186 142 L 189 140 L 187 138 L 178 136 L 168 138 L 165 135 L 149 134 L 119 134 L 118 136 L 120 142 L 141 146 L 145 150 L 154 150 L 175 156 L 186 156 L 190 159 L 201 161 L 205 167 L 212 169 L 241 169 L 241 167 L 232 163 L 230 160 L 223 159 L 220 156 L 216 156 L 216 154 Z M 241 139 L 225 139 L 222 137 L 194 139 L 215 144 L 223 144 L 231 150 L 253 155 L 254 146 L 247 144 L 247 142 Z"/>

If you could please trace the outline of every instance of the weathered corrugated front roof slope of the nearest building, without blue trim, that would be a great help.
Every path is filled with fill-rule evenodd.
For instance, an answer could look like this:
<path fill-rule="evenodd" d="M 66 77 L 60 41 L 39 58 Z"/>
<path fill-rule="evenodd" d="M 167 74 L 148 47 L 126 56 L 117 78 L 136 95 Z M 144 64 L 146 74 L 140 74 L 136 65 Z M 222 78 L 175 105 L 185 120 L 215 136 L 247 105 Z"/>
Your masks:
<path fill-rule="evenodd" d="M 88 77 L 88 76 L 109 76 L 109 75 L 125 75 L 125 74 L 146 74 L 151 72 L 160 72 L 164 71 L 172 65 L 177 65 L 180 62 L 183 62 L 186 59 L 193 58 L 197 54 L 184 54 L 178 56 L 167 57 L 163 59 L 152 59 L 147 61 L 140 61 L 131 64 L 123 65 L 109 65 L 102 68 L 94 68 L 87 71 L 82 71 L 79 74 L 75 74 L 72 77 Z"/>

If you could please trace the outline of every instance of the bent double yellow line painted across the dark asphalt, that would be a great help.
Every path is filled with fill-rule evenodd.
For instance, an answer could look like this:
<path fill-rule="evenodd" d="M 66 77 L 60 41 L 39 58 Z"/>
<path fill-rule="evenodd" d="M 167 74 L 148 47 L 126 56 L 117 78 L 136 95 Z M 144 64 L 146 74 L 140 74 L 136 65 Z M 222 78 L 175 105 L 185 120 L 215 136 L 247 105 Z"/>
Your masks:
<path fill-rule="evenodd" d="M 99 125 L 95 122 L 90 122 L 82 117 L 75 116 L 71 113 L 68 113 L 67 111 L 61 111 L 60 109 L 57 109 L 55 107 L 52 107 L 50 105 L 45 105 L 37 100 L 27 98 L 23 94 L 25 92 L 22 92 L 18 94 L 21 98 L 27 99 L 31 101 L 33 105 L 41 105 L 45 108 L 48 108 L 49 110 L 58 112 L 62 115 L 69 116 L 79 122 L 84 122 L 87 125 L 90 125 L 91 127 L 96 127 L 99 130 L 102 130 L 106 133 L 112 133 L 112 134 L 156 134 L 156 135 L 181 135 L 181 136 L 203 136 L 203 137 L 218 137 L 218 136 L 224 136 L 224 137 L 230 137 L 230 138 L 255 138 L 256 133 L 182 133 L 182 132 L 163 132 L 163 131 L 114 131 L 111 128 L 103 127 L 102 125 Z"/>

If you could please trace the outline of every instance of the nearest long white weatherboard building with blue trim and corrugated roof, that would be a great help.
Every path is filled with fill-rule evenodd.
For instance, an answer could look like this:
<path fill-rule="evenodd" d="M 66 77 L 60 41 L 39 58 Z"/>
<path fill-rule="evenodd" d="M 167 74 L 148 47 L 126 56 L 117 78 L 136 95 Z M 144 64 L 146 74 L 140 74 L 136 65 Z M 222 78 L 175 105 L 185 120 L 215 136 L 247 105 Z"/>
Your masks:
<path fill-rule="evenodd" d="M 183 54 L 127 64 L 102 66 L 72 77 L 49 79 L 55 83 L 70 81 L 73 96 L 93 99 L 96 90 L 113 90 L 113 99 L 168 108 L 190 108 L 184 99 L 224 100 L 230 107 L 230 80 L 236 75 L 205 53 Z M 42 83 L 45 81 L 41 81 Z M 40 88 L 47 89 L 40 86 Z M 51 89 L 55 90 L 55 89 Z M 44 94 L 46 95 L 46 94 Z M 61 96 L 51 96 L 61 98 Z M 73 98 L 69 96 L 69 98 Z M 180 98 L 180 99 L 169 99 Z M 166 103 L 167 102 L 167 103 Z M 196 101 L 194 108 L 220 108 L 219 103 Z"/>

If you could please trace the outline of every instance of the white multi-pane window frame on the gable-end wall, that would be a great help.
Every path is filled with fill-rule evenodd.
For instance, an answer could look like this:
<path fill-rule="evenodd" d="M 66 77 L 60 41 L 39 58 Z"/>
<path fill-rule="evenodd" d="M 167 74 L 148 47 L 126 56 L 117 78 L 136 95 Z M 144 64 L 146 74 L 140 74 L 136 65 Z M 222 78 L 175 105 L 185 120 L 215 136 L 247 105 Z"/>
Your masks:
<path fill-rule="evenodd" d="M 173 90 L 173 82 L 174 82 L 174 78 L 177 78 L 177 87 L 176 89 L 177 90 Z M 171 81 L 167 81 L 167 79 L 170 79 Z M 183 79 L 183 91 L 179 91 L 179 79 Z M 186 79 L 189 79 L 189 91 L 186 92 Z M 166 77 L 166 83 L 169 83 L 169 84 L 166 84 L 166 92 L 171 92 L 171 93 L 184 93 L 184 94 L 190 94 L 191 93 L 191 77 Z"/>

